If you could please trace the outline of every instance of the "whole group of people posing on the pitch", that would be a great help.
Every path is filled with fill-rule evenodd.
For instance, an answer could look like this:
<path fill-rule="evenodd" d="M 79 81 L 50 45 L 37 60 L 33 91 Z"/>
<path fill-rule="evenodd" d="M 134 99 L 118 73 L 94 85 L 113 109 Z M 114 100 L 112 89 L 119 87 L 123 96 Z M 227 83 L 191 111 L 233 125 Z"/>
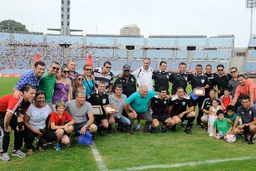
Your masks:
<path fill-rule="evenodd" d="M 112 134 L 112 125 L 117 123 L 117 133 L 133 134 L 135 120 L 136 129 L 140 129 L 141 119 L 145 120 L 145 133 L 154 134 L 158 127 L 162 133 L 167 129 L 176 132 L 180 125 L 186 134 L 192 134 L 196 120 L 196 125 L 208 129 L 215 139 L 245 134 L 249 144 L 254 144 L 254 81 L 238 75 L 236 67 L 231 68 L 231 74 L 224 72 L 223 65 L 217 66 L 217 71 L 213 73 L 212 66 L 207 65 L 203 73 L 199 64 L 194 74 L 186 73 L 186 64 L 181 62 L 177 72 L 169 73 L 166 61 L 161 61 L 160 69 L 154 71 L 150 59 L 145 58 L 133 72 L 124 65 L 114 82 L 110 61 L 95 69 L 86 64 L 82 73 L 76 71 L 76 61 L 62 67 L 52 61 L 48 70 L 43 61 L 37 61 L 33 70 L 14 85 L 13 94 L 0 98 L 0 159 L 10 160 L 7 149 L 11 129 L 12 155 L 22 158 L 33 153 L 36 137 L 39 151 L 44 150 L 43 144 L 51 142 L 54 149 L 62 151 L 60 143 L 71 145 L 73 131 L 103 135 L 106 129 L 107 134 Z M 188 84 L 192 92 L 186 92 Z M 194 90 L 201 93 L 194 94 Z M 94 106 L 101 106 L 97 115 Z M 106 106 L 114 110 L 105 110 Z M 27 154 L 20 150 L 23 139 Z"/>

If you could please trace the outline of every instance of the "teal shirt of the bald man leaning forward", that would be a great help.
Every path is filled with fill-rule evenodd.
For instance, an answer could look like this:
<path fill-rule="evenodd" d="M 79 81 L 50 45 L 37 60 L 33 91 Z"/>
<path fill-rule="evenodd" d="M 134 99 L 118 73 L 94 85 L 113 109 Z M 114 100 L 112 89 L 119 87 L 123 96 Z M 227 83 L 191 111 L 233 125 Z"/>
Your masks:
<path fill-rule="evenodd" d="M 152 97 L 156 95 L 156 92 L 153 90 L 148 90 L 148 94 L 145 98 L 140 96 L 140 92 L 136 91 L 128 99 L 126 99 L 126 104 L 130 105 L 137 113 L 144 113 L 146 110 L 149 110 L 149 102 Z"/>

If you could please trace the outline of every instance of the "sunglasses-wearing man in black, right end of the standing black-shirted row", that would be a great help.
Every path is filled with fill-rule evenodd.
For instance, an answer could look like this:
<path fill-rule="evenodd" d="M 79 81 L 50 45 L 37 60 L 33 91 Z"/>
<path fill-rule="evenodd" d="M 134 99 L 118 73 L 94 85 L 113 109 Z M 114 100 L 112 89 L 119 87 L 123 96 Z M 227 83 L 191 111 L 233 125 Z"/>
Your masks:
<path fill-rule="evenodd" d="M 218 75 L 214 76 L 213 85 L 214 90 L 217 91 L 218 97 L 220 98 L 221 95 L 224 95 L 224 90 L 228 88 L 229 81 L 232 79 L 232 76 L 228 74 L 224 74 L 224 65 L 219 64 L 217 66 Z"/>

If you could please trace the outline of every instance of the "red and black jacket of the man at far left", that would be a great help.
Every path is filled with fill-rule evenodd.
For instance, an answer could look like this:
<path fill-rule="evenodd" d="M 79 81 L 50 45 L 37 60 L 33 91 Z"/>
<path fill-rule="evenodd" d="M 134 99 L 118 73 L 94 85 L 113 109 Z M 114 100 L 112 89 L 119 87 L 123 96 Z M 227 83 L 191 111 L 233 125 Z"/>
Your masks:
<path fill-rule="evenodd" d="M 0 113 L 5 115 L 7 111 L 10 111 L 12 114 L 16 111 L 20 111 L 22 115 L 25 115 L 29 105 L 29 101 L 24 101 L 24 96 L 15 99 L 12 94 L 6 95 L 0 98 Z"/>

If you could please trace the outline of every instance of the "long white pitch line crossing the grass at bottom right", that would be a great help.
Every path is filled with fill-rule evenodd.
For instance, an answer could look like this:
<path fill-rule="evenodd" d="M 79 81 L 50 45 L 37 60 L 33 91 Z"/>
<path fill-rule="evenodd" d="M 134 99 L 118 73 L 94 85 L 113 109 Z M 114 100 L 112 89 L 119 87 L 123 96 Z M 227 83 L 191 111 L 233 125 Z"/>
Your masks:
<path fill-rule="evenodd" d="M 245 160 L 245 159 L 256 159 L 256 156 L 244 156 L 241 158 L 229 158 L 229 159 L 209 159 L 204 161 L 188 162 L 188 163 L 180 163 L 180 164 L 160 164 L 160 165 L 150 165 L 150 166 L 139 166 L 139 167 L 133 167 L 133 168 L 109 169 L 109 171 L 180 168 L 184 166 L 194 166 L 199 164 L 216 164 L 220 162 L 238 161 L 238 160 Z"/>

